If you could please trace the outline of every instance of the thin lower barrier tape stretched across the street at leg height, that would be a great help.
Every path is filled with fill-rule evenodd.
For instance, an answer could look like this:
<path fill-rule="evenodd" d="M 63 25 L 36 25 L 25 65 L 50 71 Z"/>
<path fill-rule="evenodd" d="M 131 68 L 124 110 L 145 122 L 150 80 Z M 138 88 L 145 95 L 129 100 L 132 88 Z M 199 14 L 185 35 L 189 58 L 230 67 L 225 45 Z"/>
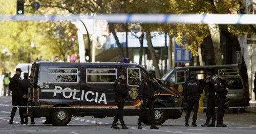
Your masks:
<path fill-rule="evenodd" d="M 58 106 L 12 106 L 3 105 L 3 107 L 27 107 L 27 108 L 60 108 Z M 61 108 L 75 108 L 75 109 L 116 109 L 117 107 L 61 107 Z M 215 107 L 218 108 L 218 107 Z M 230 106 L 229 108 L 256 108 L 256 106 Z M 140 107 L 124 107 L 124 109 L 140 109 Z M 183 107 L 155 107 L 155 109 L 183 109 Z M 207 107 L 199 107 L 199 109 L 207 109 Z"/>

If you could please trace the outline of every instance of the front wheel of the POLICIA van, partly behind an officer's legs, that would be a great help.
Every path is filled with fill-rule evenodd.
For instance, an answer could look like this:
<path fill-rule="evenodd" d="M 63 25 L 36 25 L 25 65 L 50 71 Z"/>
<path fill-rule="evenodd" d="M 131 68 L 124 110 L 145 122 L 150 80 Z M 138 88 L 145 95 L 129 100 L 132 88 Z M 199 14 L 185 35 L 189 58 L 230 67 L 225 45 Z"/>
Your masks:
<path fill-rule="evenodd" d="M 162 108 L 161 105 L 156 105 L 155 107 Z M 165 109 L 155 109 L 155 123 L 156 125 L 162 125 L 166 121 L 167 111 Z M 151 124 L 150 111 L 147 110 L 146 119 Z"/>

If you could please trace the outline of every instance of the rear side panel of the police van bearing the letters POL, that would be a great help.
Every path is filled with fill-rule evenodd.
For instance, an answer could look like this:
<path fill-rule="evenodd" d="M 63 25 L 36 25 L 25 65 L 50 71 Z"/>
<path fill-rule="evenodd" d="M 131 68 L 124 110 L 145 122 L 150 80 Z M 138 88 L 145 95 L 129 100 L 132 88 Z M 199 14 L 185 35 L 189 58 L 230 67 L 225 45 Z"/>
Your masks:
<path fill-rule="evenodd" d="M 41 106 L 61 104 L 80 107 L 79 66 L 44 65 L 39 72 Z"/>

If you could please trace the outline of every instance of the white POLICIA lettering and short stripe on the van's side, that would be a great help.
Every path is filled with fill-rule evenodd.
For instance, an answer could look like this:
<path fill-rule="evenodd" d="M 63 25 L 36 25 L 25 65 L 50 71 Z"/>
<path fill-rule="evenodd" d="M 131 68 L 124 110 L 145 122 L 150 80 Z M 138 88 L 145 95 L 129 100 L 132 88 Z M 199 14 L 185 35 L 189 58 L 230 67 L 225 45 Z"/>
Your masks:
<path fill-rule="evenodd" d="M 56 85 L 54 86 L 54 90 L 41 90 L 41 91 L 42 92 L 53 92 L 53 96 L 56 96 L 56 94 L 62 93 L 62 96 L 66 99 L 70 99 L 73 96 L 74 100 L 81 100 L 82 101 L 83 99 L 85 99 L 88 102 L 93 102 L 93 101 L 95 103 L 104 102 L 104 104 L 107 104 L 106 103 L 106 95 L 104 93 L 102 93 L 101 95 L 98 92 L 94 93 L 92 91 L 87 91 L 86 93 L 84 93 L 84 90 L 82 90 L 82 94 L 79 98 L 79 97 L 76 96 L 76 92 L 80 92 L 79 90 L 76 90 L 76 89 L 72 90 L 70 87 L 66 87 L 66 88 L 62 89 L 61 86 L 56 86 Z M 67 92 L 69 93 L 69 95 L 65 94 Z M 89 98 L 88 97 L 89 95 L 92 95 L 94 97 Z"/>

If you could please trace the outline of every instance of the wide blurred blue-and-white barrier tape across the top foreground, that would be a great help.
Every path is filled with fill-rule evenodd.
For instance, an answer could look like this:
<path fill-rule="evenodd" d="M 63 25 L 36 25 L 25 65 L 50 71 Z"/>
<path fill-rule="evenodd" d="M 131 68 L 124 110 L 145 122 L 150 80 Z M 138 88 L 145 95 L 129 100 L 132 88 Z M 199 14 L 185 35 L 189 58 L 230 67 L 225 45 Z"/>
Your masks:
<path fill-rule="evenodd" d="M 108 23 L 256 24 L 254 14 L 0 15 L 0 20 L 12 21 L 76 21 L 84 18 L 106 20 Z"/>

